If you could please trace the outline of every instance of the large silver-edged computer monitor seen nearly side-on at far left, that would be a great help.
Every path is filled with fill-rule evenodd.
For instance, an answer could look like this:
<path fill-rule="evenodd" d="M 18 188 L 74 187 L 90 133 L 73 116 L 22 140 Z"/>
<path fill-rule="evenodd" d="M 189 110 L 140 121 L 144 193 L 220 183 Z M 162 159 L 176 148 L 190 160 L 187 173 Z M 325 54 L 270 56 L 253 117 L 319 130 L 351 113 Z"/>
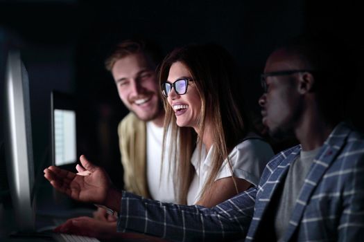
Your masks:
<path fill-rule="evenodd" d="M 10 50 L 4 83 L 5 155 L 12 208 L 19 232 L 35 230 L 33 145 L 28 73 Z"/>

